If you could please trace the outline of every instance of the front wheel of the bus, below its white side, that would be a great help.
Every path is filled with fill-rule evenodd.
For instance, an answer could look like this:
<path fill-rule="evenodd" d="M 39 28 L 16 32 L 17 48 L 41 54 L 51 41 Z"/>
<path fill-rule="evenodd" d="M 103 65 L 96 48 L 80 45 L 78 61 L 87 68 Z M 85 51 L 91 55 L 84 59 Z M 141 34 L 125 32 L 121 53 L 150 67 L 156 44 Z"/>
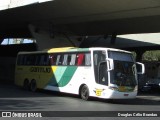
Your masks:
<path fill-rule="evenodd" d="M 81 90 L 80 90 L 80 96 L 83 100 L 88 100 L 89 98 L 89 89 L 87 85 L 83 85 Z"/>

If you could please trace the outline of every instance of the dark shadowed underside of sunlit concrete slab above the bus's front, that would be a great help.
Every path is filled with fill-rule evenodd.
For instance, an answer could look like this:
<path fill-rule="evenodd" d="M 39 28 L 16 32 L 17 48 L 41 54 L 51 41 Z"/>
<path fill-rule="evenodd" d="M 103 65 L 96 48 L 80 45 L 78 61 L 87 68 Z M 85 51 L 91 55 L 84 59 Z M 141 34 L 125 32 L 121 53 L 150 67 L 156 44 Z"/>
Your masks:
<path fill-rule="evenodd" d="M 150 40 L 151 41 L 151 40 Z M 110 48 L 119 48 L 129 51 L 147 51 L 147 50 L 159 50 L 160 42 L 153 41 L 140 41 L 122 38 L 118 36 L 114 43 L 112 42 L 111 36 L 90 36 L 84 40 L 80 47 L 110 47 Z"/>

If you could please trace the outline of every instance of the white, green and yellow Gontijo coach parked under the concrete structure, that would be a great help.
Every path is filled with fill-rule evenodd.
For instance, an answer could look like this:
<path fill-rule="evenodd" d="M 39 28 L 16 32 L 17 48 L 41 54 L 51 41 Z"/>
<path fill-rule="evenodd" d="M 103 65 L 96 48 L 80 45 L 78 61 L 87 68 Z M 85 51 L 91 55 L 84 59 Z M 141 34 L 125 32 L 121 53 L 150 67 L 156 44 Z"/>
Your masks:
<path fill-rule="evenodd" d="M 137 67 L 138 65 L 138 67 Z M 138 70 L 139 68 L 139 70 Z M 131 52 L 103 47 L 53 48 L 19 52 L 15 84 L 24 89 L 58 91 L 103 99 L 133 99 L 144 65 Z"/>

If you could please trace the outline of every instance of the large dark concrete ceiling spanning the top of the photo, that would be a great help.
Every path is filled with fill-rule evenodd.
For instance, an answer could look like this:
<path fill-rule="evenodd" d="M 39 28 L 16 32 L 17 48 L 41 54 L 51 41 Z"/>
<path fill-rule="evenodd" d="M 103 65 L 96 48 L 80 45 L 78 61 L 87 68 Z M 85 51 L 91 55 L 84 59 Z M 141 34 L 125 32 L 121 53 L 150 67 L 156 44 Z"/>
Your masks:
<path fill-rule="evenodd" d="M 159 0 L 54 0 L 0 11 L 0 37 L 30 37 L 28 24 L 74 35 L 160 32 Z"/>

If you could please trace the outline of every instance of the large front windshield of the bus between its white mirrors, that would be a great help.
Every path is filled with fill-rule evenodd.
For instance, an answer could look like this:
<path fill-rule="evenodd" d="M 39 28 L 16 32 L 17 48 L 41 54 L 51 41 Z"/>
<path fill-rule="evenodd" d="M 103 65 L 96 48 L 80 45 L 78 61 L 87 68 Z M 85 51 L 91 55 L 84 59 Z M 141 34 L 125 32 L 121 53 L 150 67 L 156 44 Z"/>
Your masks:
<path fill-rule="evenodd" d="M 136 86 L 135 63 L 130 53 L 109 51 L 108 57 L 114 60 L 114 70 L 110 83 L 117 86 Z"/>

